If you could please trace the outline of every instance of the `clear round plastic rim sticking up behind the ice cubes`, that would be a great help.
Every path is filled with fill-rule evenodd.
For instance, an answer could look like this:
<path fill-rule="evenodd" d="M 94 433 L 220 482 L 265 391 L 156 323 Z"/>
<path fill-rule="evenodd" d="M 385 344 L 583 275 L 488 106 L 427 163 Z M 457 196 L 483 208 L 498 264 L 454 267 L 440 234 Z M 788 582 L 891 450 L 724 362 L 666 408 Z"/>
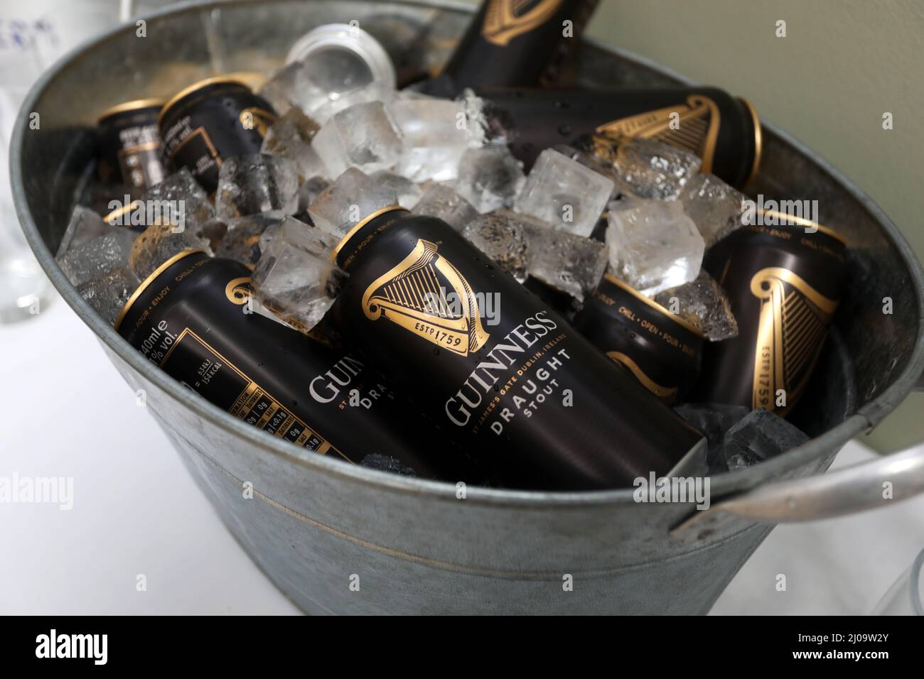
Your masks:
<path fill-rule="evenodd" d="M 350 78 L 350 89 L 369 82 L 380 82 L 391 90 L 395 89 L 397 78 L 391 58 L 382 44 L 359 26 L 325 24 L 310 30 L 292 45 L 286 64 L 320 55 L 334 56 L 346 63 L 337 70 L 345 72 Z M 362 71 L 368 71 L 368 74 L 362 74 Z M 361 81 L 363 75 L 366 82 Z"/>

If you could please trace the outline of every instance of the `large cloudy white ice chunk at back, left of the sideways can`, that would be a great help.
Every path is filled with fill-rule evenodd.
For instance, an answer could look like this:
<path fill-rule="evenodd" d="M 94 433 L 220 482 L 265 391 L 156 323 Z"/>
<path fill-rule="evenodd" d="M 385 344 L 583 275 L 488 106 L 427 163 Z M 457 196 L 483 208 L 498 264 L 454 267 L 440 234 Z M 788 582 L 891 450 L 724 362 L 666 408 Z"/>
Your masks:
<path fill-rule="evenodd" d="M 392 102 L 388 112 L 401 134 L 403 150 L 395 172 L 415 182 L 455 179 L 468 148 L 461 104 L 444 99 Z"/>

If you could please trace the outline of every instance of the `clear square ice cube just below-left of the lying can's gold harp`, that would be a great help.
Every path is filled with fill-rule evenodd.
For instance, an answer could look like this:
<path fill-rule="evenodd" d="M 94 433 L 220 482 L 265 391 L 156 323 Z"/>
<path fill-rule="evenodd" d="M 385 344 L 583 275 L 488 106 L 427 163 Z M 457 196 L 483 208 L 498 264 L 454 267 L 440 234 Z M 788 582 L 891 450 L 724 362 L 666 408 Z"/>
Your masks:
<path fill-rule="evenodd" d="M 590 236 L 613 188 L 612 179 L 546 149 L 529 171 L 514 210 L 577 236 Z"/>

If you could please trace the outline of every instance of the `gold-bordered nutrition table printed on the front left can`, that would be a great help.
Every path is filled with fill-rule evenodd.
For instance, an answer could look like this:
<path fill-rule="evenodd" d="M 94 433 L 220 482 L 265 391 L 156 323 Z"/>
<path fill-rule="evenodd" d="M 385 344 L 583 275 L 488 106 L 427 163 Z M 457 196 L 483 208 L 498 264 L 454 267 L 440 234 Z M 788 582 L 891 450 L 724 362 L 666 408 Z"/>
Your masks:
<path fill-rule="evenodd" d="M 315 453 L 348 459 L 189 328 L 179 333 L 160 365 L 236 418 Z"/>

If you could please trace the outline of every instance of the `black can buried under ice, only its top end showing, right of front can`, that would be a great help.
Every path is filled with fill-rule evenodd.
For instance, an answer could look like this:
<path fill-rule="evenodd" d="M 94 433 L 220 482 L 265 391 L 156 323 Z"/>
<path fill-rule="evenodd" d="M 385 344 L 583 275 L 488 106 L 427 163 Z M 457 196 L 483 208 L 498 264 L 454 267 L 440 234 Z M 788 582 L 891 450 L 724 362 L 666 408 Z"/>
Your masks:
<path fill-rule="evenodd" d="M 610 273 L 575 327 L 664 403 L 683 398 L 699 376 L 705 339 L 699 328 Z"/>

